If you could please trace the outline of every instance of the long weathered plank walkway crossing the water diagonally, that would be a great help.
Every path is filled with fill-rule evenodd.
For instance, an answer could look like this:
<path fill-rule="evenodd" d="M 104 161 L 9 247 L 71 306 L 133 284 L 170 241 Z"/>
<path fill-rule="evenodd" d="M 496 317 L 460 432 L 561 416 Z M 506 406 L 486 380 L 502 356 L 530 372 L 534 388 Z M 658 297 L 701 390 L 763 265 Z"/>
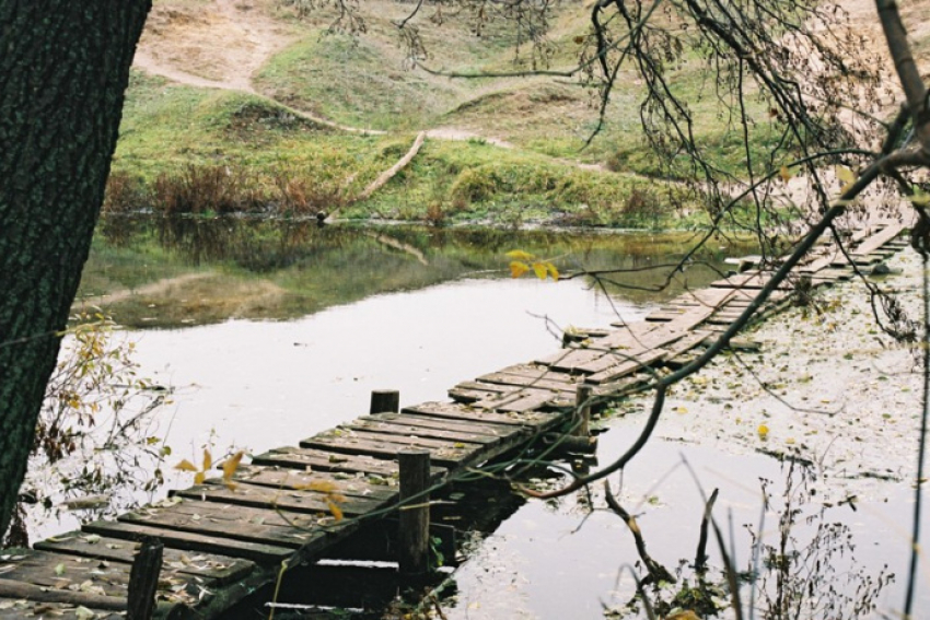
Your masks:
<path fill-rule="evenodd" d="M 904 247 L 902 231 L 899 224 L 863 230 L 847 254 L 823 243 L 793 278 L 815 286 L 848 279 L 857 268 L 868 271 Z M 133 553 L 146 537 L 165 546 L 156 615 L 214 617 L 274 582 L 282 561 L 319 559 L 368 523 L 351 517 L 386 514 L 398 498 L 400 451 L 428 449 L 430 476 L 442 482 L 523 446 L 570 419 L 580 384 L 595 397 L 619 396 L 641 389 L 658 366 L 686 363 L 770 277 L 749 270 L 723 278 L 644 321 L 567 334 L 557 353 L 462 382 L 450 389 L 451 401 L 363 416 L 255 456 L 236 471 L 235 488 L 208 479 L 116 520 L 89 523 L 34 549 L 0 551 L 0 619 L 119 616 Z M 776 291 L 759 319 L 789 295 L 787 288 Z"/>

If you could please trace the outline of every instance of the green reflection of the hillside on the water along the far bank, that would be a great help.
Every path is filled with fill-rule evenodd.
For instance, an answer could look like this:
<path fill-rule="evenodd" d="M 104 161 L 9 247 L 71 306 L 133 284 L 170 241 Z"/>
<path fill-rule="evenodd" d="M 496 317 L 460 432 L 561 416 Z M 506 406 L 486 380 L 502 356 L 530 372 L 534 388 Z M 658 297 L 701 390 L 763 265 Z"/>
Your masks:
<path fill-rule="evenodd" d="M 288 319 L 465 276 L 508 277 L 503 255 L 515 248 L 553 259 L 565 272 L 671 264 L 695 241 L 687 233 L 321 229 L 311 221 L 111 217 L 101 221 L 79 299 L 129 327 Z M 664 291 L 642 289 L 659 285 L 667 269 L 617 276 L 632 288 L 607 291 L 638 304 L 670 299 L 714 279 L 725 256 L 749 249 L 713 241 Z"/>

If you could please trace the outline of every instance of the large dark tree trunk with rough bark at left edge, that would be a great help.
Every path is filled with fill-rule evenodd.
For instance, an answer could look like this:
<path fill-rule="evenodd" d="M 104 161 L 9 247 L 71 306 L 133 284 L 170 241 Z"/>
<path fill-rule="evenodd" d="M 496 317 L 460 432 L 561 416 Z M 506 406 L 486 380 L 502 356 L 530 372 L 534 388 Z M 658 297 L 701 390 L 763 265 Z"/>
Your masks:
<path fill-rule="evenodd" d="M 88 258 L 151 0 L 0 0 L 0 535 Z"/>

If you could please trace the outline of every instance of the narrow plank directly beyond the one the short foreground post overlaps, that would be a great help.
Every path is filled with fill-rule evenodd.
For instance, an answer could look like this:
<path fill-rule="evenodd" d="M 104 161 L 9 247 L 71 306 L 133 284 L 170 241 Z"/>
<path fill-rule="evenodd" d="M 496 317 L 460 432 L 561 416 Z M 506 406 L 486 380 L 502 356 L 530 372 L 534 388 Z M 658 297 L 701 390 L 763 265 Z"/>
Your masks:
<path fill-rule="evenodd" d="M 293 554 L 293 549 L 278 545 L 246 542 L 223 536 L 209 536 L 187 531 L 174 531 L 162 527 L 152 527 L 132 523 L 97 520 L 84 524 L 81 529 L 90 534 L 100 534 L 112 538 L 139 540 L 144 536 L 162 539 L 165 547 L 185 551 L 204 551 L 232 558 L 244 558 L 260 564 L 277 564 Z"/>

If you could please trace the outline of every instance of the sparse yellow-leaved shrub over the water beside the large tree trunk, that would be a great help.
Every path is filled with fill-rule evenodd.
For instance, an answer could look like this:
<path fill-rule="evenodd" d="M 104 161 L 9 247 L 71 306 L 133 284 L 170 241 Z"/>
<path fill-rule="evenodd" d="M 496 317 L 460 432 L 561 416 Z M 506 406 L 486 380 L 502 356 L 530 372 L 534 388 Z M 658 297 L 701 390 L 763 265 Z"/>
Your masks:
<path fill-rule="evenodd" d="M 22 492 L 51 514 L 115 514 L 164 481 L 159 464 L 171 448 L 152 413 L 168 391 L 137 375 L 135 346 L 109 317 L 81 313 L 73 323 L 46 388 Z"/>

